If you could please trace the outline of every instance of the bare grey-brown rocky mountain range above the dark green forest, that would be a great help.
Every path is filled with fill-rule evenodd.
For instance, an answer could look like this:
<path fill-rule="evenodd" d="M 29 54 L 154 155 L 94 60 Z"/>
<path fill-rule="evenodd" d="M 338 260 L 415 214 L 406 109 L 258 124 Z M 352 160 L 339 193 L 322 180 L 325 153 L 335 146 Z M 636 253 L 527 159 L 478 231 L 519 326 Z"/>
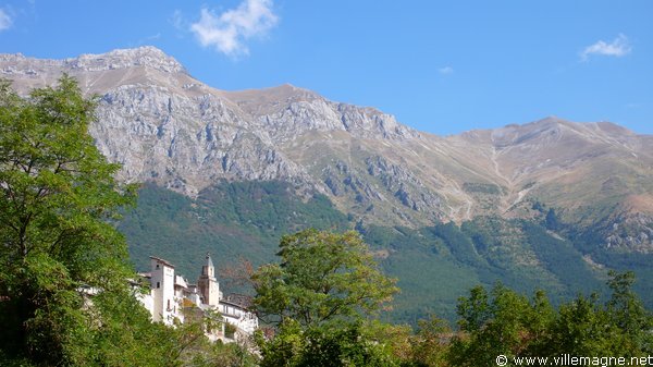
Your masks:
<path fill-rule="evenodd" d="M 601 279 L 601 269 L 628 268 L 630 260 L 615 256 L 653 254 L 653 136 L 614 123 L 549 117 L 441 137 L 374 108 L 334 102 L 292 85 L 215 89 L 153 47 L 66 60 L 0 56 L 0 76 L 22 93 L 53 84 L 62 73 L 77 78 L 85 93 L 99 96 L 91 134 L 111 161 L 123 164 L 120 179 L 182 194 L 186 198 L 178 200 L 195 201 L 188 208 L 206 203 L 215 187 L 233 192 L 233 185 L 244 182 L 283 183 L 297 205 L 325 197 L 344 222 L 367 233 L 372 243 L 370 229 L 405 229 L 422 238 L 415 241 L 428 243 L 420 231 L 441 228 L 430 232 L 435 233 L 433 241 L 451 245 L 444 223 L 476 223 L 500 238 L 494 242 L 497 252 L 513 254 L 501 261 L 540 267 L 542 279 L 565 286 L 569 280 L 547 267 L 535 245 L 519 243 L 528 242 L 530 230 L 519 224 L 513 240 L 506 240 L 507 228 L 537 223 L 544 234 L 566 241 L 588 271 L 596 272 L 595 279 Z M 513 224 L 501 227 L 496 220 Z M 463 232 L 489 267 L 504 269 L 491 261 L 498 254 L 493 245 L 479 245 L 478 231 Z M 387 261 L 402 252 L 390 243 L 377 241 Z M 435 253 L 466 264 L 454 248 Z M 479 268 L 473 261 L 467 266 Z M 645 264 L 636 268 L 652 273 Z M 518 277 L 517 270 L 510 271 Z M 537 284 L 540 278 L 533 277 Z"/>

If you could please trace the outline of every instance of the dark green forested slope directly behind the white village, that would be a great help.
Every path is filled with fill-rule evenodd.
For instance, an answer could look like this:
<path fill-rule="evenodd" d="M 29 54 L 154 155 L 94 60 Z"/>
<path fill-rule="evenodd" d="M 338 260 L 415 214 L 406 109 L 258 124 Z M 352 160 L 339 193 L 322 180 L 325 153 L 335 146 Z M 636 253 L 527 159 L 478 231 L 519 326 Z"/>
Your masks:
<path fill-rule="evenodd" d="M 172 260 L 193 279 L 207 252 L 224 267 L 239 257 L 259 265 L 274 256 L 279 238 L 299 229 L 346 229 L 347 220 L 329 199 L 303 200 L 282 182 L 222 182 L 196 200 L 145 184 L 137 207 L 119 225 L 138 269 L 148 257 Z"/>

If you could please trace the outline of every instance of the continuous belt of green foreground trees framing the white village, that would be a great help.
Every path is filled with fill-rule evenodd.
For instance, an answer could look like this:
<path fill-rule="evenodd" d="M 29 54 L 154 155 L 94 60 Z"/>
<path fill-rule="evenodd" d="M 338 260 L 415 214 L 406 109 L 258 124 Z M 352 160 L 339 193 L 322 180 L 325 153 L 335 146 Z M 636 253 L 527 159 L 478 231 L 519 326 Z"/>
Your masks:
<path fill-rule="evenodd" d="M 209 343 L 206 320 L 152 323 L 114 227 L 134 189 L 114 181 L 120 167 L 88 134 L 95 107 L 67 76 L 27 97 L 0 82 L 2 365 L 495 366 L 500 354 L 653 353 L 653 317 L 632 272 L 608 273 L 604 303 L 579 295 L 556 309 L 542 291 L 527 297 L 497 284 L 459 299 L 457 331 L 438 318 L 417 333 L 380 322 L 398 289 L 353 231 L 285 235 L 279 264 L 254 272 L 254 306 L 275 327 L 256 338 L 258 354 Z"/>

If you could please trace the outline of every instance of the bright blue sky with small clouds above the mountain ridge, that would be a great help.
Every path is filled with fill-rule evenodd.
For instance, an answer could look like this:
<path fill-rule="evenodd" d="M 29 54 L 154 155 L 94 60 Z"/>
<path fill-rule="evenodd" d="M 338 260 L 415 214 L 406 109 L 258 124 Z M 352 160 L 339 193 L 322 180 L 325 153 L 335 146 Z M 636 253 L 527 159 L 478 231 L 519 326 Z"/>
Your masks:
<path fill-rule="evenodd" d="M 455 134 L 546 115 L 653 134 L 653 1 L 0 2 L 0 53 L 159 47 L 221 89 L 291 83 Z"/>

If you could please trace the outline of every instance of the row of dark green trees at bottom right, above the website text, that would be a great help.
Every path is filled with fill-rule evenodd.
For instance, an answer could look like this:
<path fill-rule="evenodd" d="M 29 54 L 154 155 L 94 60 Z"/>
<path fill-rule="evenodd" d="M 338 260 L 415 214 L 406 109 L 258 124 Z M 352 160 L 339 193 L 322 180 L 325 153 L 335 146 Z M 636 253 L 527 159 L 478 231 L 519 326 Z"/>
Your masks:
<path fill-rule="evenodd" d="M 652 351 L 652 315 L 631 290 L 632 273 L 611 273 L 612 297 L 579 295 L 554 310 L 543 292 L 532 301 L 502 285 L 471 290 L 458 304 L 456 335 L 448 350 L 453 366 L 496 366 L 513 357 L 646 356 Z"/>

